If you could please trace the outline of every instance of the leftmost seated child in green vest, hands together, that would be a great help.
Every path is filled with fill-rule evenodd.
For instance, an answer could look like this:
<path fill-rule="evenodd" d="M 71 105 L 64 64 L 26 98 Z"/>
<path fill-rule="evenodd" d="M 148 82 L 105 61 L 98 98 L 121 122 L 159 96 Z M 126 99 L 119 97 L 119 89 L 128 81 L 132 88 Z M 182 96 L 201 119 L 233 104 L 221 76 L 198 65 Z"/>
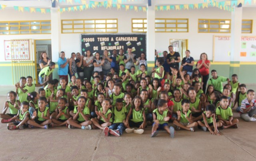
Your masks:
<path fill-rule="evenodd" d="M 14 91 L 10 91 L 7 94 L 8 101 L 5 102 L 3 112 L 0 114 L 1 123 L 11 122 L 11 118 L 18 114 L 18 110 L 20 109 L 19 100 L 15 99 L 16 93 Z M 9 109 L 10 113 L 6 114 L 7 109 Z"/>

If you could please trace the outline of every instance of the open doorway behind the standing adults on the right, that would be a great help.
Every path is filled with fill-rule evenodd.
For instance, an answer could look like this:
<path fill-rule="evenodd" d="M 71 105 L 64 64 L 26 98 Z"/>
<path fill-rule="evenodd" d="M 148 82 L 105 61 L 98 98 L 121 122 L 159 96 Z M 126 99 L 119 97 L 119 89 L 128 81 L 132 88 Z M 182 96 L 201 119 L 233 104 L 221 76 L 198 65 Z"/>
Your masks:
<path fill-rule="evenodd" d="M 186 50 L 188 48 L 188 39 L 170 39 L 170 45 L 173 46 L 174 52 L 179 52 L 180 60 L 186 57 Z"/>

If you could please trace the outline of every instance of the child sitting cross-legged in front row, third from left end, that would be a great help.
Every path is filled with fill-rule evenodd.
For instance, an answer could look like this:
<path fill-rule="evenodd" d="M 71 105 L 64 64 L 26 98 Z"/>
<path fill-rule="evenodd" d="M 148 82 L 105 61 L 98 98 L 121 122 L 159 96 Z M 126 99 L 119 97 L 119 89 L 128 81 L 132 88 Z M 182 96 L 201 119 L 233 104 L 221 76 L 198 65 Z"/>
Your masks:
<path fill-rule="evenodd" d="M 46 107 L 46 98 L 40 97 L 38 99 L 38 109 L 33 112 L 31 119 L 27 121 L 29 128 L 39 127 L 42 129 L 48 129 L 48 125 L 51 124 L 50 109 Z"/>

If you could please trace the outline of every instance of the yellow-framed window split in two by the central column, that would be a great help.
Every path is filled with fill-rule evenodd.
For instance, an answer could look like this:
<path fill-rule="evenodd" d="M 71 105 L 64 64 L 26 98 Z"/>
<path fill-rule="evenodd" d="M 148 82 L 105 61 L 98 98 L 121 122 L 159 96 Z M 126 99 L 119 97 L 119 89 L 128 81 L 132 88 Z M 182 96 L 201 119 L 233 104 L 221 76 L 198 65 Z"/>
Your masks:
<path fill-rule="evenodd" d="M 132 19 L 132 32 L 147 32 L 147 19 Z M 156 18 L 155 32 L 188 32 L 187 18 Z"/>

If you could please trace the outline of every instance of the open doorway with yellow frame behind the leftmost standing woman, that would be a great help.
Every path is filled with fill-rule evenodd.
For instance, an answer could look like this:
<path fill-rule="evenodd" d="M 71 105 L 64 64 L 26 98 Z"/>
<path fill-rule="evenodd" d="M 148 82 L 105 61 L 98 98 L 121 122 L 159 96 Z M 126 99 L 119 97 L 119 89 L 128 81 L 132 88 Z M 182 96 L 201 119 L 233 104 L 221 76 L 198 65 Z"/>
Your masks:
<path fill-rule="evenodd" d="M 35 47 L 35 61 L 36 61 L 36 81 L 38 82 L 38 74 L 41 71 L 39 66 L 39 60 L 41 58 L 41 53 L 46 52 L 47 56 L 50 60 L 52 60 L 51 55 L 51 39 L 44 39 L 44 40 L 34 40 L 34 47 Z"/>

